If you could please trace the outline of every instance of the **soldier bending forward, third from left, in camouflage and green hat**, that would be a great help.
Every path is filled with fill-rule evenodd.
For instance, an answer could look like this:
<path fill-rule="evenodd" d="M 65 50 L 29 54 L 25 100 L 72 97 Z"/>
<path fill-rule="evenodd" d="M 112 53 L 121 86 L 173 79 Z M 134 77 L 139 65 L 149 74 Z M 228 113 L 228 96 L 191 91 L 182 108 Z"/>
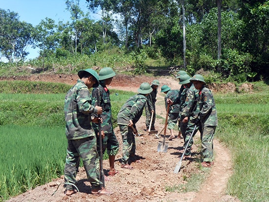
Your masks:
<path fill-rule="evenodd" d="M 130 97 L 121 107 L 117 116 L 117 123 L 122 136 L 122 158 L 121 167 L 126 169 L 134 169 L 129 160 L 140 162 L 140 160 L 131 159 L 135 155 L 135 138 L 132 126 L 135 129 L 135 123 L 140 119 L 147 95 L 152 91 L 149 83 L 142 83 L 138 89 L 139 94 Z"/>

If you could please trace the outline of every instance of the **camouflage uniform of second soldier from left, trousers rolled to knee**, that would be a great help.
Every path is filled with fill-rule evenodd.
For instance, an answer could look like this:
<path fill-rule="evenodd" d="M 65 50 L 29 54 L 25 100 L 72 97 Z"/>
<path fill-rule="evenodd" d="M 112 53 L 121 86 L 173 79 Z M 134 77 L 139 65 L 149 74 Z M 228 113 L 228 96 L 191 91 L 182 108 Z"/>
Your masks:
<path fill-rule="evenodd" d="M 99 101 L 97 100 L 98 90 L 100 91 Z M 101 114 L 101 118 L 103 119 L 103 123 L 101 123 L 101 129 L 102 131 L 104 131 L 105 134 L 105 137 L 102 139 L 102 151 L 104 153 L 105 150 L 107 149 L 107 154 L 109 156 L 116 156 L 119 150 L 119 143 L 116 135 L 114 134 L 112 126 L 110 91 L 107 89 L 106 86 L 104 86 L 101 83 L 101 85 L 92 90 L 91 95 L 92 95 L 92 105 L 101 106 L 104 111 Z M 100 104 L 98 105 L 98 103 Z M 99 135 L 97 135 L 99 133 L 99 126 L 96 123 L 92 123 L 92 127 L 96 134 L 97 142 L 99 142 Z M 97 144 L 98 152 L 100 152 L 99 147 L 100 145 Z"/>

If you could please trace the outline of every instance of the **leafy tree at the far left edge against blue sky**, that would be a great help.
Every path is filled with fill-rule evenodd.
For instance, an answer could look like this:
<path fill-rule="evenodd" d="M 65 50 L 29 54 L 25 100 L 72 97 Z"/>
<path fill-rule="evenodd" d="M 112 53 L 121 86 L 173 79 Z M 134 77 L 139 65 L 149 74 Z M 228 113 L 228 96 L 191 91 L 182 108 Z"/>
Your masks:
<path fill-rule="evenodd" d="M 24 60 L 26 48 L 32 45 L 32 25 L 20 22 L 18 13 L 0 9 L 0 52 L 12 62 L 15 58 Z"/>

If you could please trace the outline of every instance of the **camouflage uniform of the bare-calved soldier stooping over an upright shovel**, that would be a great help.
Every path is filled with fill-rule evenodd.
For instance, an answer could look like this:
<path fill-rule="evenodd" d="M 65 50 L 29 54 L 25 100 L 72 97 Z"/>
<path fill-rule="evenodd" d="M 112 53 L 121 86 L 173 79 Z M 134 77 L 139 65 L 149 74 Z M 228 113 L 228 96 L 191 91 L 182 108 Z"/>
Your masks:
<path fill-rule="evenodd" d="M 175 103 L 176 99 L 179 97 L 179 90 L 169 90 L 165 97 L 165 109 L 167 110 L 167 99 L 171 99 Z M 168 118 L 168 129 L 174 129 L 179 119 L 179 104 L 175 103 L 170 105 L 169 118 Z"/>

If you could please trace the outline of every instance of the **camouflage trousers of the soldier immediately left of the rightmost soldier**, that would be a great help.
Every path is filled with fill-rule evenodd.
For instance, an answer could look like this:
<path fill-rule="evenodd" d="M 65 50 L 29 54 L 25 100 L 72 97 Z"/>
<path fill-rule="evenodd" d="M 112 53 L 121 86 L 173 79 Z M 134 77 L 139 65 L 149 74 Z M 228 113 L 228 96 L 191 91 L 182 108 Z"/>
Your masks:
<path fill-rule="evenodd" d="M 199 124 L 196 127 L 196 129 L 194 131 L 194 134 L 193 134 L 193 136 L 192 136 L 189 144 L 187 145 L 187 143 L 188 143 L 188 141 L 189 141 L 189 139 L 190 139 L 190 137 L 192 135 L 192 132 L 194 130 L 194 127 L 195 127 L 195 124 L 193 122 L 191 122 L 191 121 L 188 121 L 188 124 L 187 124 L 187 127 L 186 127 L 186 131 L 185 131 L 185 136 L 183 136 L 184 137 L 184 145 L 183 145 L 183 148 L 185 149 L 187 147 L 186 153 L 185 153 L 186 156 L 190 156 L 191 155 L 191 147 L 193 145 L 193 137 L 194 137 L 194 135 L 196 135 L 197 131 L 201 129 L 201 126 Z"/>

